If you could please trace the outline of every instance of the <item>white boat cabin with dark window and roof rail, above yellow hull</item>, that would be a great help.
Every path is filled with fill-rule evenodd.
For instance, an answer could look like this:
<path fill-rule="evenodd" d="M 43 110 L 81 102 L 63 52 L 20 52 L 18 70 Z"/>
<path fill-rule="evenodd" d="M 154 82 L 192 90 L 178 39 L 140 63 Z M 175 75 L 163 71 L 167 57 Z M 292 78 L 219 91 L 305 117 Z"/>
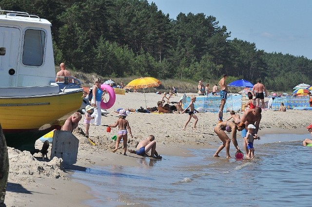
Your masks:
<path fill-rule="evenodd" d="M 55 76 L 51 23 L 0 10 L 0 88 L 50 86 Z"/>

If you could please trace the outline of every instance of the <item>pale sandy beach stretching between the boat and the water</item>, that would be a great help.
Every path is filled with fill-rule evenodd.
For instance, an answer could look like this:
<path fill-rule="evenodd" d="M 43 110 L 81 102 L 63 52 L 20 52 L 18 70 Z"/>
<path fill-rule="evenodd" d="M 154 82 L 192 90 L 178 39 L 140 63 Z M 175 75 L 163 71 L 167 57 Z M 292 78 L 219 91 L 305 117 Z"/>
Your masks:
<path fill-rule="evenodd" d="M 179 94 L 180 95 L 180 94 Z M 191 95 L 191 94 L 187 94 Z M 145 94 L 147 107 L 156 106 L 160 100 L 160 94 Z M 179 96 L 174 96 L 170 101 L 178 101 Z M 118 113 L 114 113 L 118 108 L 145 108 L 143 93 L 117 94 L 113 108 L 107 110 L 108 113 L 102 116 L 102 125 L 114 124 L 118 119 Z M 238 113 L 242 115 L 243 113 Z M 166 155 L 192 156 L 187 149 L 191 148 L 215 148 L 220 140 L 215 135 L 214 126 L 217 122 L 216 113 L 197 113 L 197 130 L 192 130 L 193 120 L 189 123 L 186 131 L 182 127 L 187 120 L 187 114 L 179 113 L 129 113 L 127 120 L 134 138 L 128 137 L 128 149 L 135 149 L 135 145 L 149 134 L 156 137 L 156 150 L 165 157 Z M 307 133 L 306 126 L 311 124 L 312 111 L 288 110 L 287 112 L 263 111 L 259 126 L 258 135 L 266 133 Z M 224 120 L 230 117 L 230 113 L 224 113 Z M 111 132 L 106 132 L 104 126 L 90 126 L 90 138 L 94 140 L 96 146 L 90 144 L 83 136 L 83 119 L 79 122 L 78 128 L 73 132 L 79 139 L 78 160 L 71 166 L 71 169 L 63 169 L 61 160 L 54 158 L 50 162 L 41 161 L 41 154 L 32 156 L 29 152 L 8 148 L 10 160 L 10 172 L 8 179 L 5 204 L 7 207 L 32 206 L 41 207 L 67 206 L 82 207 L 86 206 L 83 201 L 91 199 L 93 196 L 88 194 L 88 188 L 77 182 L 70 180 L 71 170 L 84 170 L 92 165 L 121 165 L 138 166 L 135 158 L 138 155 L 122 156 L 122 145 L 119 145 L 117 152 L 113 153 L 115 141 L 111 139 L 117 134 L 116 128 Z M 238 132 L 238 139 L 241 138 Z M 281 137 L 282 140 L 282 137 Z M 36 142 L 36 148 L 40 149 L 41 141 Z M 242 148 L 242 146 L 240 146 Z M 231 150 L 233 150 L 231 144 Z M 51 145 L 49 147 L 51 151 Z M 211 155 L 213 156 L 213 154 Z M 48 153 L 50 158 L 50 153 Z"/>

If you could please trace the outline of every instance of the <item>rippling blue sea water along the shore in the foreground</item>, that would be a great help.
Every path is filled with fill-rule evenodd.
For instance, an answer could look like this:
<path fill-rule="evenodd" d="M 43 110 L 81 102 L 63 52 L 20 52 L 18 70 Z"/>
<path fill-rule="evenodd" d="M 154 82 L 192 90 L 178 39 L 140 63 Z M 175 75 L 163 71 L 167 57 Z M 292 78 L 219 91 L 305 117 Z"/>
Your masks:
<path fill-rule="evenodd" d="M 73 178 L 91 188 L 96 198 L 85 204 L 93 207 L 310 207 L 312 147 L 302 146 L 309 136 L 263 136 L 253 160 L 226 159 L 224 150 L 215 158 L 216 146 L 191 150 L 193 157 L 136 158 L 140 167 L 93 166 Z"/>

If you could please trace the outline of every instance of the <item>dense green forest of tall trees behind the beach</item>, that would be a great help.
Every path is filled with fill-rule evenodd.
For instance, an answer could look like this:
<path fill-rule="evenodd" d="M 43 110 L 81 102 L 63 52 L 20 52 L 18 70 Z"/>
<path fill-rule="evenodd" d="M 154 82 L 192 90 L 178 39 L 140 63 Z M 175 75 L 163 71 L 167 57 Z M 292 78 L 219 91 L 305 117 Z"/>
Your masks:
<path fill-rule="evenodd" d="M 170 19 L 147 0 L 1 0 L 0 6 L 51 21 L 56 64 L 77 71 L 207 81 L 227 73 L 261 79 L 275 91 L 312 84 L 310 59 L 230 40 L 226 26 L 203 13 Z"/>

